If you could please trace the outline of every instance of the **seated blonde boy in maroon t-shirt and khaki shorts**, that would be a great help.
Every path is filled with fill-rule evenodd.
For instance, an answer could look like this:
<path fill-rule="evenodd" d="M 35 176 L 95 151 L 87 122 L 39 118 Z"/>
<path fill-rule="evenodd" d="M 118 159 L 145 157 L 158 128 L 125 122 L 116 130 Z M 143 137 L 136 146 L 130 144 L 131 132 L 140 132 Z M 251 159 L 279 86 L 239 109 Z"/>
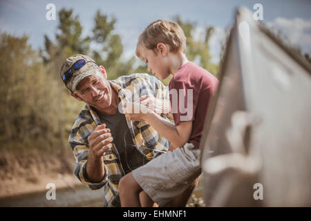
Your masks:
<path fill-rule="evenodd" d="M 122 177 L 121 206 L 140 206 L 138 196 L 142 190 L 159 206 L 173 206 L 171 201 L 200 175 L 200 137 L 218 79 L 188 61 L 185 52 L 185 34 L 177 23 L 170 21 L 154 21 L 138 39 L 136 55 L 147 63 L 149 72 L 159 79 L 173 75 L 169 90 L 175 124 L 137 102 L 124 105 L 126 117 L 147 122 L 179 148 Z M 173 90 L 177 93 L 171 93 Z M 183 104 L 187 106 L 183 108 Z M 140 113 L 133 113 L 134 106 L 139 106 Z"/>

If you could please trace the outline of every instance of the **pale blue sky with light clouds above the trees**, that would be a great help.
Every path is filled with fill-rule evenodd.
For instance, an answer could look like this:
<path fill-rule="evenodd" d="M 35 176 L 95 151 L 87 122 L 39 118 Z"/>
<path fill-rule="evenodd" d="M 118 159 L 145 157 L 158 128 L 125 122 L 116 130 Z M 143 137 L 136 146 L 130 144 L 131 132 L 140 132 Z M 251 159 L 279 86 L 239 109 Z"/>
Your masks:
<path fill-rule="evenodd" d="M 55 4 L 56 20 L 48 21 L 46 6 Z M 196 38 L 202 37 L 206 26 L 215 28 L 209 46 L 213 61 L 219 61 L 220 43 L 225 38 L 225 29 L 234 23 L 239 6 L 255 12 L 254 4 L 263 6 L 263 23 L 281 32 L 288 40 L 311 55 L 311 0 L 0 0 L 0 30 L 17 36 L 29 35 L 33 48 L 44 47 L 44 35 L 55 39 L 59 22 L 58 12 L 62 8 L 73 8 L 79 16 L 83 35 L 91 35 L 97 10 L 117 19 L 115 33 L 122 37 L 124 59 L 135 53 L 140 32 L 156 19 L 172 20 L 180 15 L 182 21 L 196 22 Z"/>

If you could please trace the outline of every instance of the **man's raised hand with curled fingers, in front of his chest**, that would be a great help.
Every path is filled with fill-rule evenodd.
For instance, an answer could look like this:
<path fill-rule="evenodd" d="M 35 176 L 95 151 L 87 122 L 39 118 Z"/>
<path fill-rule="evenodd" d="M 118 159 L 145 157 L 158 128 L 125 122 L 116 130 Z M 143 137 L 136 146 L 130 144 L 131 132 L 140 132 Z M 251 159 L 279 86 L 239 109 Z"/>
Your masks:
<path fill-rule="evenodd" d="M 106 124 L 97 126 L 95 131 L 88 136 L 90 148 L 88 154 L 94 157 L 94 160 L 100 159 L 112 147 L 111 142 L 113 142 L 113 137 L 111 137 L 110 129 L 106 128 Z"/>

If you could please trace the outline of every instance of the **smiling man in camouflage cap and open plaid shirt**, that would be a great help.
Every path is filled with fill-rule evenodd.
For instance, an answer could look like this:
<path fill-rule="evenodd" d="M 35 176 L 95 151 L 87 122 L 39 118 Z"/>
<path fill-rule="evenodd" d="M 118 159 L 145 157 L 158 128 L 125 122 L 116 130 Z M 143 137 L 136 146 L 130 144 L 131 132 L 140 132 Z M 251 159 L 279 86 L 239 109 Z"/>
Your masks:
<path fill-rule="evenodd" d="M 169 104 L 168 90 L 147 74 L 109 81 L 104 67 L 86 55 L 66 59 L 60 75 L 70 94 L 86 103 L 68 140 L 76 160 L 75 175 L 90 189 L 104 187 L 104 206 L 120 206 L 121 177 L 164 153 L 169 146 L 149 124 L 126 119 L 120 102 L 154 97 L 157 103 Z M 168 117 L 165 113 L 169 111 L 160 112 L 162 117 Z M 144 192 L 140 201 L 143 206 L 153 205 Z"/>

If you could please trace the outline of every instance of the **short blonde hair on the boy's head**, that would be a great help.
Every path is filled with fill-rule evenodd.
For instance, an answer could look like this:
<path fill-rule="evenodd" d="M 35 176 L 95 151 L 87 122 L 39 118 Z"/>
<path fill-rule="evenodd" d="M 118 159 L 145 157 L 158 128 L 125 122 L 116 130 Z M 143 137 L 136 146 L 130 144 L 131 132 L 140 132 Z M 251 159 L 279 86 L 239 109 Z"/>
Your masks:
<path fill-rule="evenodd" d="M 140 34 L 140 37 L 138 37 L 135 54 L 140 57 L 140 48 L 142 46 L 156 53 L 159 43 L 168 44 L 170 46 L 170 52 L 177 52 L 178 50 L 184 53 L 186 52 L 185 33 L 178 23 L 157 20 L 149 24 L 142 34 Z"/>

